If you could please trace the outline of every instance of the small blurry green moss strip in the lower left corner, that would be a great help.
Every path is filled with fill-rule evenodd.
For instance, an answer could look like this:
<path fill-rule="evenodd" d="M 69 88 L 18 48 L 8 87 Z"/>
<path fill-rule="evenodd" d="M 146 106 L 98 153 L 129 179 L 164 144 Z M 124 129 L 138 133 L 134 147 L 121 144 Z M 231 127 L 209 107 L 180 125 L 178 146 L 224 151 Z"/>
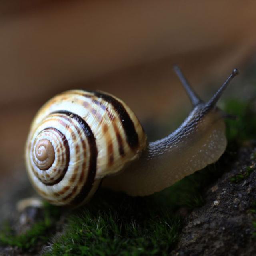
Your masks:
<path fill-rule="evenodd" d="M 9 222 L 5 222 L 3 229 L 0 232 L 0 245 L 16 246 L 22 250 L 28 250 L 40 241 L 48 240 L 48 231 L 54 225 L 54 220 L 59 215 L 58 209 L 45 204 L 44 219 L 35 223 L 24 234 L 16 235 Z"/>

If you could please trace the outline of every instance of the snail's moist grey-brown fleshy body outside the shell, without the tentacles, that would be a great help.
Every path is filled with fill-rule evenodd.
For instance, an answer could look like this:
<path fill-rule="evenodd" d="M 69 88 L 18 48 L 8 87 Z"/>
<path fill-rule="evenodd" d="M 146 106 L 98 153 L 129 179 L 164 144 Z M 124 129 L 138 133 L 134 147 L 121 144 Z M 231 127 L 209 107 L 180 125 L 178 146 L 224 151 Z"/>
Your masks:
<path fill-rule="evenodd" d="M 120 174 L 106 177 L 102 185 L 146 196 L 216 162 L 227 144 L 221 115 L 218 109 L 206 114 L 198 106 L 175 132 L 150 143 L 140 159 Z"/>

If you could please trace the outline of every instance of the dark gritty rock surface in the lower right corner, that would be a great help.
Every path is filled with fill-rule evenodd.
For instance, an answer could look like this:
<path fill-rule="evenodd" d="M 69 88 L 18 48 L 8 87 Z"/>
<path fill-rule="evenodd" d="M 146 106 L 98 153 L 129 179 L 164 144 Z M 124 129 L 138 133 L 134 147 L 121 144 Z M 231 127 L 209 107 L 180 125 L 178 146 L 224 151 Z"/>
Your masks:
<path fill-rule="evenodd" d="M 172 255 L 256 255 L 255 148 L 240 149 L 236 159 L 207 188 L 204 206 L 185 218 Z"/>

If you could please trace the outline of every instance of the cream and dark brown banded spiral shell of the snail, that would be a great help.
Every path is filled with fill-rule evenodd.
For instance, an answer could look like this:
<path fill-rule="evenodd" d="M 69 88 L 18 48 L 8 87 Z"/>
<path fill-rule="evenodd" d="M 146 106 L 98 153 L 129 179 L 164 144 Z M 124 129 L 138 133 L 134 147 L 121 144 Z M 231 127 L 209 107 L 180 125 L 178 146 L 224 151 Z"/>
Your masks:
<path fill-rule="evenodd" d="M 71 90 L 38 112 L 26 143 L 28 176 L 56 205 L 80 205 L 101 179 L 119 172 L 146 148 L 144 130 L 130 108 L 103 92 Z"/>

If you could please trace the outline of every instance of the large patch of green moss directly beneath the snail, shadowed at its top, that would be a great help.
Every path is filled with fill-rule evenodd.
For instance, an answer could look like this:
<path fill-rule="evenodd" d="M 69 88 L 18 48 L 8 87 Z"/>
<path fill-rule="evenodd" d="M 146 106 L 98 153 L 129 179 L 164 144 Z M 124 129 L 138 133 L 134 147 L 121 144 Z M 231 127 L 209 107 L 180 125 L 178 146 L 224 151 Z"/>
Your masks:
<path fill-rule="evenodd" d="M 167 255 L 181 230 L 174 209 L 201 205 L 200 178 L 187 177 L 144 198 L 100 190 L 67 218 L 64 233 L 45 255 Z M 187 186 L 191 182 L 194 186 Z"/>

